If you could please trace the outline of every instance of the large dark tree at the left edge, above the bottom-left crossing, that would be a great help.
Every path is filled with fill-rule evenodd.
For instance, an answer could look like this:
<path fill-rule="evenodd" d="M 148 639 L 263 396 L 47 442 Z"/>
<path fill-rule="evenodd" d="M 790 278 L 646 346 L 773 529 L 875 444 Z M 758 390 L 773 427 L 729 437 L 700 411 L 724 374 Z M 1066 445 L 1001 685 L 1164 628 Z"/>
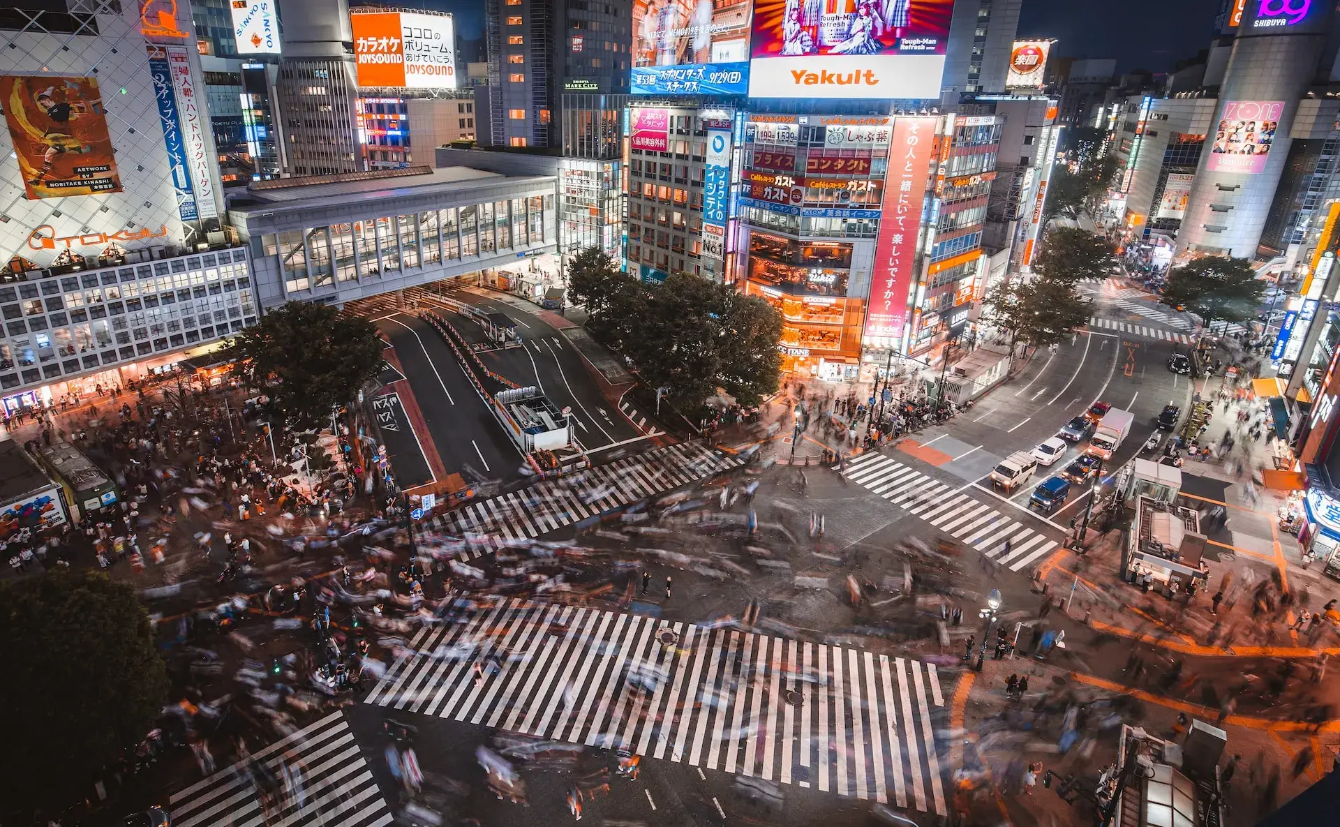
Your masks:
<path fill-rule="evenodd" d="M 134 590 L 102 572 L 0 582 L 0 639 L 19 670 L 0 681 L 0 811 L 54 814 L 154 726 L 168 672 Z"/>

